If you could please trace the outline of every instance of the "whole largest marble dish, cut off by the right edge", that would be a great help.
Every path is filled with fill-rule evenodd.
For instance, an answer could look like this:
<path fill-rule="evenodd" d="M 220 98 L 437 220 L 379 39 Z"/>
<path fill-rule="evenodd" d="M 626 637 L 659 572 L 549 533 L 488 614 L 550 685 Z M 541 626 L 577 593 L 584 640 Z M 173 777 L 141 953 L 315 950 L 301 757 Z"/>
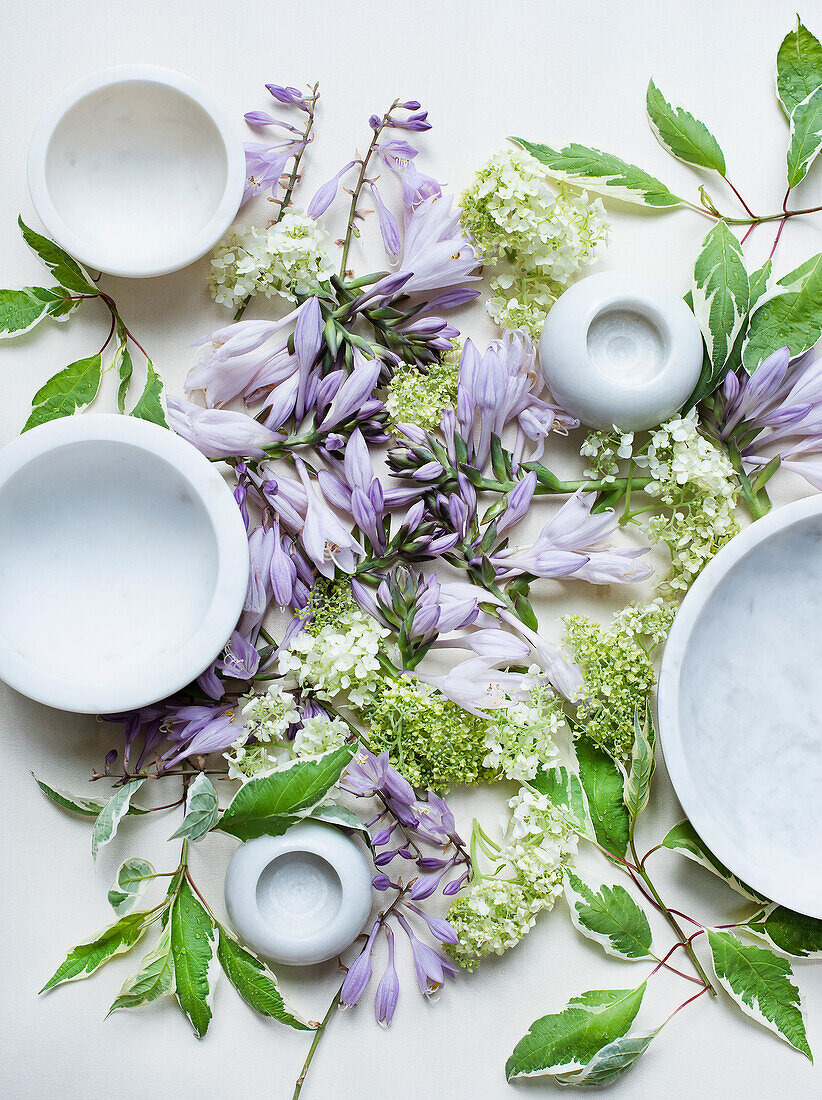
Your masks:
<path fill-rule="evenodd" d="M 758 893 L 822 917 L 822 498 L 733 539 L 682 602 L 659 676 L 673 789 Z"/>

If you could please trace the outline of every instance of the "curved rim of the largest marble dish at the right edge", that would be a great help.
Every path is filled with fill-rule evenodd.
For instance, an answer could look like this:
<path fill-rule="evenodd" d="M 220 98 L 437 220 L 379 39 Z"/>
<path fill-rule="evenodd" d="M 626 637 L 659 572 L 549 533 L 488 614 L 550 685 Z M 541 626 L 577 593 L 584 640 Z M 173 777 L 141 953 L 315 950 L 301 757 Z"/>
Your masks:
<path fill-rule="evenodd" d="M 731 842 L 712 816 L 688 768 L 679 724 L 680 673 L 688 644 L 711 596 L 749 553 L 807 519 L 822 517 L 822 496 L 808 496 L 775 508 L 745 527 L 702 570 L 677 612 L 662 653 L 657 693 L 659 744 L 666 769 L 686 816 L 711 853 L 738 879 L 774 902 L 798 913 L 822 919 L 822 884 L 786 878 L 780 868 L 764 866 L 761 856 Z"/>

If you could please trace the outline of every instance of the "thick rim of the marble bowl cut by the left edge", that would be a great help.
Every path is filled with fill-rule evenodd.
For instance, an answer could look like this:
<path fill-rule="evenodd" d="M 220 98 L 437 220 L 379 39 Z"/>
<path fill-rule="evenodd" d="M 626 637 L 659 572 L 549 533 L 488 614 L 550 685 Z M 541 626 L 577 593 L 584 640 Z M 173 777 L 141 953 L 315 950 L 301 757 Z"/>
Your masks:
<path fill-rule="evenodd" d="M 62 680 L 45 666 L 21 658 L 0 634 L 0 679 L 46 706 L 77 714 L 136 710 L 165 698 L 195 680 L 219 656 L 231 636 L 245 600 L 249 546 L 245 527 L 231 490 L 219 471 L 196 448 L 167 428 L 119 413 L 87 413 L 39 425 L 0 450 L 0 493 L 30 463 L 56 455 L 67 446 L 112 443 L 160 459 L 171 466 L 200 503 L 217 547 L 215 587 L 209 605 L 190 638 L 162 669 L 134 669 L 109 684 Z M 55 540 L 58 535 L 55 534 Z M 36 580 L 36 579 L 35 579 Z"/>

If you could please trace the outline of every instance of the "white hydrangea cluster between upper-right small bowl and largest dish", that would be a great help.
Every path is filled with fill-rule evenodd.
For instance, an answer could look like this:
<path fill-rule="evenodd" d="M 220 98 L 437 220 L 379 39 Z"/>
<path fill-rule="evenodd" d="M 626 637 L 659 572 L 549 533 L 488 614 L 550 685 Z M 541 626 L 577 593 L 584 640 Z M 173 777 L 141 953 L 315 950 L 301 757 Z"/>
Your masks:
<path fill-rule="evenodd" d="M 651 433 L 644 454 L 634 455 L 654 481 L 646 487 L 672 509 L 654 516 L 648 531 L 670 550 L 664 595 L 687 592 L 703 566 L 739 530 L 735 518 L 738 482 L 727 455 L 699 432 L 697 410 Z"/>

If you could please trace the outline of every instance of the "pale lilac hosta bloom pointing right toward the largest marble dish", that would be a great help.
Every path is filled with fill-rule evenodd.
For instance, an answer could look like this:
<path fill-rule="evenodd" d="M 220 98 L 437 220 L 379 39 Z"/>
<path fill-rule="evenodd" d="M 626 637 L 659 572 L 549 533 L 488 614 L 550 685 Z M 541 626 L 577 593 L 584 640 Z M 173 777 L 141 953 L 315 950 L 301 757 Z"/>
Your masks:
<path fill-rule="evenodd" d="M 617 521 L 613 512 L 591 515 L 594 493 L 576 493 L 550 519 L 529 547 L 500 550 L 491 556 L 497 575 L 505 580 L 520 573 L 534 576 L 570 576 L 591 584 L 628 584 L 644 581 L 650 568 L 637 562 L 647 547 L 616 549 L 605 539 Z"/>

